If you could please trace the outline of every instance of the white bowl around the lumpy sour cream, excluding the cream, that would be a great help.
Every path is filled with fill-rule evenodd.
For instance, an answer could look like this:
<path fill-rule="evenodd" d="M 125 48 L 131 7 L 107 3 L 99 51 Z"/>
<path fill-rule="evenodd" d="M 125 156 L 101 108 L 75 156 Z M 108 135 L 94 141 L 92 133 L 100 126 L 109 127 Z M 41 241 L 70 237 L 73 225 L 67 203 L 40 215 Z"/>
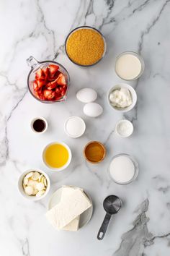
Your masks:
<path fill-rule="evenodd" d="M 126 107 L 126 108 L 117 108 L 116 106 L 112 106 L 112 103 L 109 101 L 110 93 L 112 93 L 112 91 L 117 90 L 117 89 L 120 90 L 121 88 L 128 89 L 130 91 L 131 96 L 132 96 L 133 103 L 130 106 Z M 108 92 L 108 95 L 107 95 L 107 101 L 109 103 L 109 106 L 114 108 L 116 111 L 128 112 L 128 111 L 130 111 L 131 109 L 134 108 L 134 106 L 137 102 L 137 95 L 136 95 L 136 92 L 135 92 L 135 90 L 133 89 L 132 86 L 130 86 L 128 84 L 125 84 L 125 83 L 120 83 L 120 84 L 117 84 L 117 85 L 115 85 L 115 86 L 113 86 L 112 88 L 109 89 L 109 92 Z"/>

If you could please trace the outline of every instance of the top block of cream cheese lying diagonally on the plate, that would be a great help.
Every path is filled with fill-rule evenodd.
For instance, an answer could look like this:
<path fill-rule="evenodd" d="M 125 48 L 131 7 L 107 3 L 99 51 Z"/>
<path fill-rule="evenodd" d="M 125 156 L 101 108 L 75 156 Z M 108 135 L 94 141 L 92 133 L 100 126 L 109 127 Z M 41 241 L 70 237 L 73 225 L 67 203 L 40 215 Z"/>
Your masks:
<path fill-rule="evenodd" d="M 52 209 L 48 210 L 46 217 L 56 229 L 62 229 L 90 207 L 91 202 L 84 192 L 80 189 L 75 189 L 66 200 L 62 200 L 58 205 L 55 205 Z"/>

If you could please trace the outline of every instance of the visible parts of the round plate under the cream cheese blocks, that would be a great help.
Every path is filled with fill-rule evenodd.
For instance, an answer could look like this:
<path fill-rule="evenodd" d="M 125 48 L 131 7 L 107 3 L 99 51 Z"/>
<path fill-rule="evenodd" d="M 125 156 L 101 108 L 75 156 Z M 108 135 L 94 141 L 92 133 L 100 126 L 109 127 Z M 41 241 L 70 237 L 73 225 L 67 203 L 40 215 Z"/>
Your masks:
<path fill-rule="evenodd" d="M 68 186 L 68 187 L 74 187 L 74 186 Z M 79 187 L 75 187 L 75 188 L 79 188 Z M 53 195 L 50 197 L 50 200 L 48 202 L 48 210 L 53 208 L 55 205 L 58 204 L 58 202 L 61 201 L 61 193 L 62 193 L 62 187 L 57 189 L 53 193 Z M 89 197 L 89 195 L 87 195 L 86 192 L 84 192 L 84 193 L 89 198 L 89 200 L 91 202 L 91 207 L 89 209 L 85 210 L 84 213 L 81 213 L 80 222 L 79 222 L 79 229 L 81 229 L 83 226 L 85 226 L 90 221 L 91 216 L 93 214 L 93 203 L 92 203 L 91 197 Z"/>

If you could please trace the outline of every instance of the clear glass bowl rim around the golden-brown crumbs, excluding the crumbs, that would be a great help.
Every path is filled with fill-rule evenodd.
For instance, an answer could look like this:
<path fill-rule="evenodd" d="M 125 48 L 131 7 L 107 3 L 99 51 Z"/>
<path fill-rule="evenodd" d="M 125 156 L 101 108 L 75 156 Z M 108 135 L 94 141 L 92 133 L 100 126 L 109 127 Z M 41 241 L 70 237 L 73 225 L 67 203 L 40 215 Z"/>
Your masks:
<path fill-rule="evenodd" d="M 102 57 L 101 57 L 98 61 L 96 61 L 95 63 L 93 63 L 93 64 L 89 64 L 89 65 L 78 64 L 78 63 L 76 63 L 75 61 L 73 61 L 73 60 L 70 58 L 70 56 L 68 55 L 67 48 L 66 48 L 66 46 L 67 46 L 67 40 L 68 40 L 68 38 L 71 36 L 72 33 L 74 33 L 76 30 L 81 30 L 81 29 L 94 30 L 94 31 L 96 31 L 97 33 L 99 33 L 99 35 L 101 35 L 101 36 L 102 36 L 102 39 L 104 40 L 104 52 L 103 52 L 103 54 L 102 54 Z M 99 30 L 97 30 L 97 28 L 90 27 L 90 26 L 81 26 L 81 27 L 76 27 L 76 28 L 74 28 L 73 30 L 71 30 L 71 32 L 68 34 L 68 36 L 66 37 L 66 40 L 65 40 L 65 51 L 66 51 L 66 55 L 68 56 L 68 59 L 70 59 L 70 61 L 72 61 L 73 64 L 76 64 L 76 65 L 78 65 L 79 67 L 91 67 L 91 66 L 94 66 L 95 64 L 97 64 L 99 61 L 101 61 L 101 60 L 103 59 L 104 55 L 106 54 L 106 50 L 107 50 L 107 44 L 106 44 L 106 40 L 105 40 L 105 38 L 104 38 L 104 35 L 102 35 L 102 33 L 101 33 Z"/>

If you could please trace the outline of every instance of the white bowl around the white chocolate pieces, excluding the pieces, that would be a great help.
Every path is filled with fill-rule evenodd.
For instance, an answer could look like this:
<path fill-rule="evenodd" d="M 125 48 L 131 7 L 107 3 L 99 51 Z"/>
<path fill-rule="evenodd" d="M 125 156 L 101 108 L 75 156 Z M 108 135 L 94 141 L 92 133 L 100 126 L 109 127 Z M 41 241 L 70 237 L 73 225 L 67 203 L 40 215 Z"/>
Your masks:
<path fill-rule="evenodd" d="M 41 196 L 41 197 L 36 197 L 35 195 L 27 195 L 25 194 L 24 192 L 24 188 L 23 188 L 23 179 L 24 179 L 24 176 L 26 176 L 29 172 L 31 171 L 37 171 L 39 172 L 40 174 L 43 174 L 45 176 L 45 179 L 47 179 L 47 182 L 48 182 L 48 186 L 45 190 L 45 193 Z M 18 180 L 18 189 L 19 189 L 19 192 L 20 194 L 24 197 L 24 198 L 27 198 L 28 200 L 30 201 L 38 201 L 38 200 L 41 200 L 43 197 L 45 197 L 49 190 L 50 190 L 50 179 L 48 177 L 48 174 L 45 173 L 45 171 L 41 171 L 37 168 L 32 168 L 30 170 L 27 170 L 27 171 L 24 171 L 20 176 L 19 176 L 19 180 Z"/>

